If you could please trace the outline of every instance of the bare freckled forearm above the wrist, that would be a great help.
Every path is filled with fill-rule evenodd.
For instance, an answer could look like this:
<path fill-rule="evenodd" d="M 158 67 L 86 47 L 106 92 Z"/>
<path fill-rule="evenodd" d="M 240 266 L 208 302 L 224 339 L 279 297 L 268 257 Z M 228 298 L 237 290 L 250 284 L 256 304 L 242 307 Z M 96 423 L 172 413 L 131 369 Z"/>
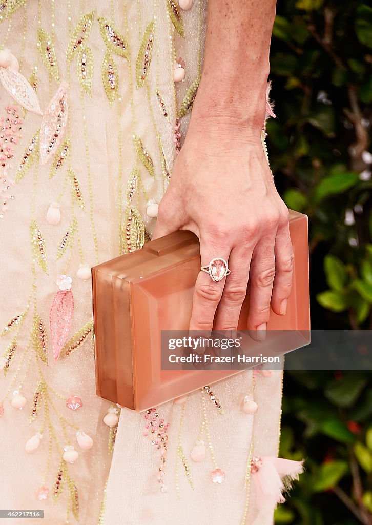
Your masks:
<path fill-rule="evenodd" d="M 233 120 L 257 134 L 265 116 L 275 0 L 208 0 L 203 74 L 192 120 Z"/>

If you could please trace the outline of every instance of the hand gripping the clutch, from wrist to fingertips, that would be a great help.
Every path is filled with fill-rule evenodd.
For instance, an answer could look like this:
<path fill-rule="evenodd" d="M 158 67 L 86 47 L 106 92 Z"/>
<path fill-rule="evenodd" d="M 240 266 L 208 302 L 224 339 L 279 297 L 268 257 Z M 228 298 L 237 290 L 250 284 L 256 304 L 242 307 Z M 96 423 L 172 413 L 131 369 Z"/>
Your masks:
<path fill-rule="evenodd" d="M 288 208 L 275 188 L 260 134 L 237 126 L 189 126 L 158 209 L 154 238 L 177 229 L 200 240 L 201 265 L 228 261 L 231 275 L 198 275 L 189 330 L 236 330 L 250 283 L 247 329 L 263 340 L 273 311 L 284 315 L 292 286 Z M 208 129 L 208 132 L 200 130 Z"/>

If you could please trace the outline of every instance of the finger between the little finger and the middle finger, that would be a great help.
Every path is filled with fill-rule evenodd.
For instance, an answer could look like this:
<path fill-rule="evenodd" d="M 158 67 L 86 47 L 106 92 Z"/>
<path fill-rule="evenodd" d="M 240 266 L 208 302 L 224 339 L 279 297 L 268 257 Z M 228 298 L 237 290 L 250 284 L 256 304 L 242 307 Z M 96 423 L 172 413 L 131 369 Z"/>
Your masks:
<path fill-rule="evenodd" d="M 263 341 L 270 317 L 270 300 L 275 276 L 274 232 L 261 238 L 254 248 L 250 267 L 248 330 Z"/>

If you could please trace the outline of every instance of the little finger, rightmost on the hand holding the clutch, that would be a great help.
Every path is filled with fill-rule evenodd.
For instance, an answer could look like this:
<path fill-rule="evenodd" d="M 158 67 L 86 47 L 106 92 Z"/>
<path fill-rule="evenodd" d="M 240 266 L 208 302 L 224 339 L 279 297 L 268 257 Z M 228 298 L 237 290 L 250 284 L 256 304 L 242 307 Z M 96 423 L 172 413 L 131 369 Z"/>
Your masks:
<path fill-rule="evenodd" d="M 275 239 L 275 278 L 271 297 L 271 307 L 275 313 L 284 316 L 287 300 L 292 289 L 294 255 L 289 235 L 289 224 L 285 222 L 278 228 Z"/>

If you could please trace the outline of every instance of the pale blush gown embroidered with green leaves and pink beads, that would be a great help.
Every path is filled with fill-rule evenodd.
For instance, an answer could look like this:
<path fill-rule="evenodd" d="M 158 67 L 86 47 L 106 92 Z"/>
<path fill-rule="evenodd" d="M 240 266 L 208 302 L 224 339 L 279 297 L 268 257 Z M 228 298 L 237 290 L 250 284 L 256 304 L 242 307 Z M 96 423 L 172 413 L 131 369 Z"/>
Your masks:
<path fill-rule="evenodd" d="M 0 508 L 33 523 L 272 523 L 250 463 L 277 455 L 280 372 L 150 414 L 95 395 L 90 267 L 151 237 L 205 27 L 204 0 L 0 3 Z"/>

